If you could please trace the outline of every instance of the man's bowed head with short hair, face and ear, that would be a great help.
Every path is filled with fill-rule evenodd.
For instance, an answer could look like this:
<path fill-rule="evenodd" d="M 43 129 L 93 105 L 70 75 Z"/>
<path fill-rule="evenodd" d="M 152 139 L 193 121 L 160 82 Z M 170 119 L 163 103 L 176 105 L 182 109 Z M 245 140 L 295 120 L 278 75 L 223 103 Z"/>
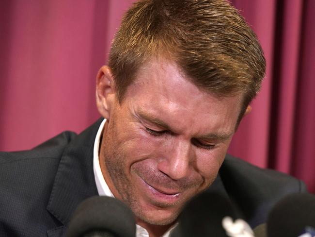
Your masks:
<path fill-rule="evenodd" d="M 167 225 L 212 184 L 265 71 L 261 48 L 219 0 L 142 0 L 97 75 L 100 165 L 138 223 Z"/>

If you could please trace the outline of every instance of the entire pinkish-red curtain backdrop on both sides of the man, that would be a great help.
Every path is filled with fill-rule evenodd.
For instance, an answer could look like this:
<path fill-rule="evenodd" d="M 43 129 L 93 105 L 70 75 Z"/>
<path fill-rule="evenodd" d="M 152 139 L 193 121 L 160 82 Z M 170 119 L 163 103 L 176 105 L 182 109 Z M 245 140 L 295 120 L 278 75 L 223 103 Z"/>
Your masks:
<path fill-rule="evenodd" d="M 0 150 L 30 149 L 99 118 L 96 72 L 132 2 L 0 2 Z M 315 1 L 231 4 L 258 35 L 267 76 L 229 152 L 292 174 L 315 193 Z"/>

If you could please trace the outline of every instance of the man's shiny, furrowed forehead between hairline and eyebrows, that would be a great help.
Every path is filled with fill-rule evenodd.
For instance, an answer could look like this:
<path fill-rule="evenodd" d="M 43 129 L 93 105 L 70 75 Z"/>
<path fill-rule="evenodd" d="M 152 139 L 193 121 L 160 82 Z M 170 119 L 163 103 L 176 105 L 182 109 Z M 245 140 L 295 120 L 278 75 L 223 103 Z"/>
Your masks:
<path fill-rule="evenodd" d="M 135 110 L 145 110 L 174 126 L 185 123 L 198 131 L 209 129 L 210 123 L 211 129 L 230 129 L 236 123 L 240 99 L 241 95 L 219 98 L 200 90 L 175 63 L 162 59 L 144 64 L 126 93 L 126 101 Z M 222 126 L 224 122 L 226 126 Z"/>

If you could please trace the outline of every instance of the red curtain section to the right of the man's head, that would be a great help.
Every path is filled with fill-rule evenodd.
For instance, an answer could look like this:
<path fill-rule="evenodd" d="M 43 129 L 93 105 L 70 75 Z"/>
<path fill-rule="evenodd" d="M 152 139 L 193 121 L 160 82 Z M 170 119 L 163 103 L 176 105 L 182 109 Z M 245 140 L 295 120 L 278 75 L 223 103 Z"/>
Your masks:
<path fill-rule="evenodd" d="M 267 73 L 252 102 L 252 114 L 243 119 L 229 152 L 260 167 L 292 174 L 315 193 L 315 1 L 234 0 L 232 4 L 256 32 Z"/>

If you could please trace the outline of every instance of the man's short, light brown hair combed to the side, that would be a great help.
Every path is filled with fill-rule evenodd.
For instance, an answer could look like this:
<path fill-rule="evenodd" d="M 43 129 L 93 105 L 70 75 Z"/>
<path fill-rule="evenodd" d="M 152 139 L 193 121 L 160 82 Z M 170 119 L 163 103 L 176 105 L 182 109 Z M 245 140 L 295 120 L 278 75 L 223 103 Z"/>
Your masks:
<path fill-rule="evenodd" d="M 140 66 L 173 60 L 202 90 L 244 93 L 243 112 L 265 75 L 263 51 L 244 18 L 225 0 L 140 0 L 122 19 L 109 67 L 121 102 Z"/>

